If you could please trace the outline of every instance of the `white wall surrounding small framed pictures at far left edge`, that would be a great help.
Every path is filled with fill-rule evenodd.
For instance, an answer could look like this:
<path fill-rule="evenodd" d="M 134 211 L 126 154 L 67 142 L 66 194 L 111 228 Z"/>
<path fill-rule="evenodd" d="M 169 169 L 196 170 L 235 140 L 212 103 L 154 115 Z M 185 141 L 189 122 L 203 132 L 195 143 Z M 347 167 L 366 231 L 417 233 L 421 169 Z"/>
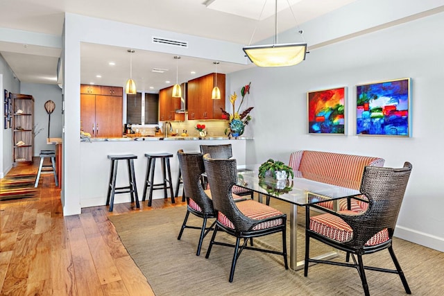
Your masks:
<path fill-rule="evenodd" d="M 1 89 L 1 114 L 3 115 L 3 89 L 8 90 L 12 94 L 19 93 L 20 81 L 15 77 L 14 73 L 0 55 L 0 89 Z M 12 168 L 12 132 L 11 129 L 3 128 L 3 116 L 0 127 L 0 178 L 2 178 Z"/>

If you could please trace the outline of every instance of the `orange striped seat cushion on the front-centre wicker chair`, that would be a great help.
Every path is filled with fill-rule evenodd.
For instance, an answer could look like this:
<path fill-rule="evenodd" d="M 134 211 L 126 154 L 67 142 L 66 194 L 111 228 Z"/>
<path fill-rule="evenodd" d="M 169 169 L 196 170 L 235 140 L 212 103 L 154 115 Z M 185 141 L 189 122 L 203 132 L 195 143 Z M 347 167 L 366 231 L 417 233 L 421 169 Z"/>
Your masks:
<path fill-rule="evenodd" d="M 266 204 L 256 202 L 255 200 L 244 200 L 242 202 L 237 202 L 236 206 L 242 214 L 253 220 L 262 220 L 265 218 L 282 215 L 281 211 L 273 209 L 272 207 L 268 207 Z M 233 223 L 220 211 L 217 216 L 217 220 L 219 220 L 219 222 L 226 227 L 234 229 Z M 259 223 L 258 225 L 253 227 L 252 230 L 266 229 L 278 225 L 282 225 L 282 218 L 276 218 L 274 220 L 268 220 L 266 222 Z"/>

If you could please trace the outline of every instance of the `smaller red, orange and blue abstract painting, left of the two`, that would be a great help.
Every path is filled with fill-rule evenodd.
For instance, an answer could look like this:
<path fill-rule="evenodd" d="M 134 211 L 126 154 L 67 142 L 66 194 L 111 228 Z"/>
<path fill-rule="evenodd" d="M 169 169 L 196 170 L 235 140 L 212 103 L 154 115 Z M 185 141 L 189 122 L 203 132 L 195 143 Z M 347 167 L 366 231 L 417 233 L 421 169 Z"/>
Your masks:
<path fill-rule="evenodd" d="M 345 133 L 345 87 L 307 93 L 308 132 Z"/>

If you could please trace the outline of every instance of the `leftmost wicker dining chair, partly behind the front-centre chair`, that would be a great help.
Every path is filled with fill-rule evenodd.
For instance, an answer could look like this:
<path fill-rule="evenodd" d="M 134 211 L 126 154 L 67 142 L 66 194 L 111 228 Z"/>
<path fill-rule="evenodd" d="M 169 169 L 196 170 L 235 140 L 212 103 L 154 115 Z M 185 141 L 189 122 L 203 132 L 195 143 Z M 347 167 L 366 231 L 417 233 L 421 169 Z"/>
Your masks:
<path fill-rule="evenodd" d="M 180 228 L 178 240 L 182 237 L 185 228 L 200 229 L 200 238 L 196 252 L 197 256 L 200 255 L 203 238 L 205 238 L 208 232 L 214 227 L 215 222 L 213 222 L 210 227 L 207 227 L 207 219 L 216 218 L 213 202 L 207 193 L 205 193 L 201 182 L 201 175 L 205 172 L 202 157 L 202 153 L 184 153 L 183 150 L 178 150 L 184 193 L 187 198 L 187 214 L 185 215 L 182 227 Z M 187 225 L 190 213 L 203 218 L 202 227 Z"/>

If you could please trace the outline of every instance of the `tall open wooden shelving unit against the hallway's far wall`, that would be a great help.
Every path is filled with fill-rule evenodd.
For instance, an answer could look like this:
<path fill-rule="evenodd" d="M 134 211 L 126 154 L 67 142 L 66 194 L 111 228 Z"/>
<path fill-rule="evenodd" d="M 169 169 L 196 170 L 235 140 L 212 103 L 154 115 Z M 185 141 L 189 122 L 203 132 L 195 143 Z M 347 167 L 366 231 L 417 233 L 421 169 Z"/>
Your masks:
<path fill-rule="evenodd" d="M 28 94 L 11 94 L 12 165 L 29 165 L 34 155 L 34 98 Z"/>

